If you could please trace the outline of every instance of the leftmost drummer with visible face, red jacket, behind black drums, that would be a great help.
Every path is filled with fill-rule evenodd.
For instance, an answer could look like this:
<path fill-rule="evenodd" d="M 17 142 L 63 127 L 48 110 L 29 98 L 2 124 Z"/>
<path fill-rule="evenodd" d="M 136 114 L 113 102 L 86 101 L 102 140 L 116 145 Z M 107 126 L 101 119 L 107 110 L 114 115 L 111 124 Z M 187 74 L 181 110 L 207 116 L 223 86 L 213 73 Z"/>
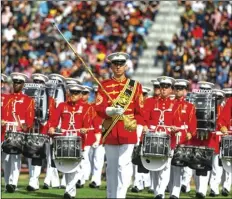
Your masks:
<path fill-rule="evenodd" d="M 22 93 L 24 83 L 28 77 L 23 73 L 11 73 L 13 80 L 13 93 L 9 94 L 8 100 L 2 109 L 2 120 L 6 128 L 16 127 L 17 132 L 28 132 L 33 127 L 34 122 L 34 100 Z M 5 134 L 5 132 L 2 132 Z M 9 193 L 15 192 L 18 184 L 21 169 L 21 156 L 9 154 L 5 160 L 5 184 Z"/>

